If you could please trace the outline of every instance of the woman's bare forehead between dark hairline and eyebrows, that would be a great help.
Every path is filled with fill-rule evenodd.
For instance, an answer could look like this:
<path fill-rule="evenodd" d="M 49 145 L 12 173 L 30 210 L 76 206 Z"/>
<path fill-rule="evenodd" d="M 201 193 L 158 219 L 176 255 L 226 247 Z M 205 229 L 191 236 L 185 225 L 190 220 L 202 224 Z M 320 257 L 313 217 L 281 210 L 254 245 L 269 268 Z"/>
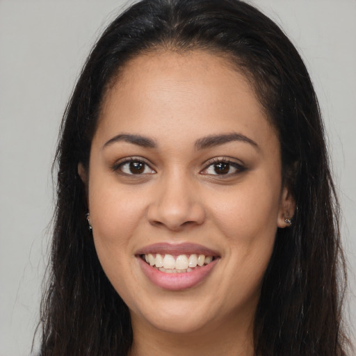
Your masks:
<path fill-rule="evenodd" d="M 122 68 L 104 98 L 98 131 L 159 131 L 163 138 L 248 127 L 255 139 L 263 133 L 258 128 L 272 129 L 250 82 L 231 61 L 205 51 L 158 51 Z"/>

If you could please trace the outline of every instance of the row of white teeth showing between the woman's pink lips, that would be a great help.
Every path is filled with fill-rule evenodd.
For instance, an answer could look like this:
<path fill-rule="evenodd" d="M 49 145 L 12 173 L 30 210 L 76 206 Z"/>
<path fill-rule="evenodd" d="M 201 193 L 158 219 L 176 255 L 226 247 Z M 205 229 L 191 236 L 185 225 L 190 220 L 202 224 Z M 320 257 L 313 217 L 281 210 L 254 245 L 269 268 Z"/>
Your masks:
<path fill-rule="evenodd" d="M 207 266 L 217 259 L 216 256 L 206 256 L 204 254 L 140 254 L 149 266 L 160 270 L 163 273 L 189 273 L 197 268 Z"/>

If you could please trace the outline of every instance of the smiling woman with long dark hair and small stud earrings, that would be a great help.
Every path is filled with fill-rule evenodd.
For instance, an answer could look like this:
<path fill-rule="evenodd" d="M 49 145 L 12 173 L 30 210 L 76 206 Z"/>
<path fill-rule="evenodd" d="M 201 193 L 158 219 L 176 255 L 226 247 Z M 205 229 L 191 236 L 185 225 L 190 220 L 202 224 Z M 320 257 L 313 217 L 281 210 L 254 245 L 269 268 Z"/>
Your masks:
<path fill-rule="evenodd" d="M 41 355 L 346 355 L 316 95 L 252 6 L 140 1 L 115 19 L 56 164 Z"/>

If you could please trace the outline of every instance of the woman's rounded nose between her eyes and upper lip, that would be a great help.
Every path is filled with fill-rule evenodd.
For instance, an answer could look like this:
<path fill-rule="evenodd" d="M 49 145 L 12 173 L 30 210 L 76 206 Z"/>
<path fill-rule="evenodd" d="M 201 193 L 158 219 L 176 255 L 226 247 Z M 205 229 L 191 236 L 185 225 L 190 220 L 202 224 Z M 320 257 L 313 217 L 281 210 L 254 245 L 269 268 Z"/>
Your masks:
<path fill-rule="evenodd" d="M 147 211 L 150 224 L 180 231 L 204 223 L 205 210 L 199 190 L 182 176 L 172 172 L 157 182 L 154 199 Z"/>

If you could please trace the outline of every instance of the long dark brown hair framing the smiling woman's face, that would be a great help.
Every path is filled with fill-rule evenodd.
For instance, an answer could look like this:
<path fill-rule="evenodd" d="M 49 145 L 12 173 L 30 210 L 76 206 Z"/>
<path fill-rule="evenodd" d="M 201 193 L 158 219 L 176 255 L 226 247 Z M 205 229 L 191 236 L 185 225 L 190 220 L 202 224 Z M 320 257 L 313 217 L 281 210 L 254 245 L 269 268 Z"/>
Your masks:
<path fill-rule="evenodd" d="M 255 355 L 346 355 L 339 205 L 316 94 L 286 35 L 238 0 L 140 1 L 92 49 L 67 105 L 54 161 L 57 200 L 39 355 L 124 356 L 131 346 L 129 310 L 99 264 L 77 167 L 88 168 L 102 99 L 122 66 L 162 48 L 227 56 L 252 84 L 280 138 L 282 175 L 297 208 L 293 225 L 277 231 L 264 276 Z"/>

